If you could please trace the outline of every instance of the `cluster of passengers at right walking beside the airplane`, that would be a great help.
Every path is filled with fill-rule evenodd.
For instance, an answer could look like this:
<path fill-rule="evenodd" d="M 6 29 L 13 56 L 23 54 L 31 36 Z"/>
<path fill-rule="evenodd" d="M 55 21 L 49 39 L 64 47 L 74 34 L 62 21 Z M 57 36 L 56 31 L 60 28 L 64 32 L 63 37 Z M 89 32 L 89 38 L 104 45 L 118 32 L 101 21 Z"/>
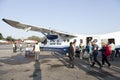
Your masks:
<path fill-rule="evenodd" d="M 79 44 L 79 57 L 80 59 L 88 58 L 89 64 L 91 67 L 94 67 L 94 65 L 97 63 L 99 66 L 99 69 L 102 69 L 105 62 L 108 64 L 108 67 L 111 66 L 108 57 L 112 60 L 114 60 L 115 55 L 115 44 L 110 43 L 108 44 L 108 40 L 101 41 L 101 49 L 99 49 L 99 46 L 96 44 L 97 40 L 89 41 L 87 46 L 85 47 L 83 45 L 83 41 L 80 40 Z M 76 40 L 74 42 L 70 43 L 69 47 L 69 59 L 70 59 L 70 67 L 74 68 L 74 56 L 76 52 Z M 102 54 L 102 63 L 98 60 L 98 54 Z"/>

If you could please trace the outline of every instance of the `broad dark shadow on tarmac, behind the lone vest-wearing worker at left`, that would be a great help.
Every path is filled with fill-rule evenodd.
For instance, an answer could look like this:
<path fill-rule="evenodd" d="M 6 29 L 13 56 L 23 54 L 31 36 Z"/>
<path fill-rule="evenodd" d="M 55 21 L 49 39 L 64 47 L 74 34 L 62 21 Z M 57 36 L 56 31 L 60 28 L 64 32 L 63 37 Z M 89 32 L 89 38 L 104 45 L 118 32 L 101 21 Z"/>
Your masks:
<path fill-rule="evenodd" d="M 0 62 L 9 64 L 9 65 L 20 65 L 20 64 L 27 64 L 30 62 L 34 62 L 34 56 L 28 56 L 25 57 L 22 53 L 11 53 L 11 54 L 16 54 L 11 57 L 0 57 Z M 51 60 L 44 60 L 46 58 L 55 58 L 52 55 L 40 55 L 40 59 L 42 59 L 41 64 L 43 63 L 48 63 Z M 0 65 L 3 66 L 3 65 Z"/>

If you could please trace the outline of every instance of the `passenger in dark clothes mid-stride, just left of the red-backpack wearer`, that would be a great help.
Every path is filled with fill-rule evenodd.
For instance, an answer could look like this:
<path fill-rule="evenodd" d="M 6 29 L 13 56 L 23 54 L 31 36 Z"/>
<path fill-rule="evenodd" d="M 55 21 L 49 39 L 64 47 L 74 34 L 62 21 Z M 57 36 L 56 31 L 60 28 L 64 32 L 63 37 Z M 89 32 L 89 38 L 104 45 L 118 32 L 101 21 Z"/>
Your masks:
<path fill-rule="evenodd" d="M 97 63 L 99 65 L 99 69 L 102 68 L 101 63 L 98 61 L 97 59 L 97 55 L 98 55 L 98 45 L 96 44 L 97 41 L 93 41 L 92 42 L 92 46 L 93 46 L 93 62 L 91 67 L 94 67 L 95 63 Z"/>

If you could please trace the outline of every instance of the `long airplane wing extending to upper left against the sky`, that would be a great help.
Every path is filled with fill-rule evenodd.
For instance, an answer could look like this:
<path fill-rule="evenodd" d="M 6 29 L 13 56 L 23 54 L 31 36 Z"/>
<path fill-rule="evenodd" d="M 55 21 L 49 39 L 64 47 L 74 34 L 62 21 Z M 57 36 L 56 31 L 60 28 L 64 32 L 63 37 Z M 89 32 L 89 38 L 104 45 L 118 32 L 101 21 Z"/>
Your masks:
<path fill-rule="evenodd" d="M 23 23 L 20 23 L 20 22 L 17 22 L 17 21 L 9 20 L 9 19 L 2 19 L 2 20 L 12 27 L 15 27 L 15 28 L 18 28 L 18 29 L 24 29 L 25 31 L 31 30 L 31 31 L 41 32 L 43 34 L 52 33 L 52 34 L 57 34 L 57 35 L 60 35 L 60 36 L 76 37 L 76 35 L 69 34 L 69 33 L 66 33 L 66 32 L 49 30 L 49 29 L 46 29 L 46 28 L 31 26 L 31 25 L 23 24 Z"/>

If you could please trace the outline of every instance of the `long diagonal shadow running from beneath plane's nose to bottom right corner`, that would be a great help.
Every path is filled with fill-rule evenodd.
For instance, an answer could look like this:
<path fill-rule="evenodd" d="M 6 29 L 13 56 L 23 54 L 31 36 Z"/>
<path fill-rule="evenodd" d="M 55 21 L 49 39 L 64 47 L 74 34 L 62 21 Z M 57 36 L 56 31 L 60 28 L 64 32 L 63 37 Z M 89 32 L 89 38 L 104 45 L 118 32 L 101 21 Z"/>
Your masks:
<path fill-rule="evenodd" d="M 59 61 L 61 61 L 66 67 L 68 67 L 68 64 L 69 64 L 68 59 L 61 56 L 59 53 L 55 53 L 53 55 L 58 55 L 56 58 L 58 58 Z M 60 59 L 60 58 L 62 58 L 62 59 Z M 98 80 L 120 80 L 120 76 L 119 77 L 115 76 L 115 74 L 119 74 L 119 71 L 120 71 L 117 68 L 112 68 L 112 69 L 110 68 L 109 70 L 114 71 L 114 73 L 110 73 L 109 71 L 106 71 L 106 70 L 100 70 L 98 67 L 91 68 L 90 65 L 88 65 L 87 62 L 85 62 L 83 60 L 80 60 L 78 58 L 75 58 L 74 62 L 75 62 L 76 67 L 78 67 L 79 69 L 86 72 L 86 75 L 91 75 Z"/>

